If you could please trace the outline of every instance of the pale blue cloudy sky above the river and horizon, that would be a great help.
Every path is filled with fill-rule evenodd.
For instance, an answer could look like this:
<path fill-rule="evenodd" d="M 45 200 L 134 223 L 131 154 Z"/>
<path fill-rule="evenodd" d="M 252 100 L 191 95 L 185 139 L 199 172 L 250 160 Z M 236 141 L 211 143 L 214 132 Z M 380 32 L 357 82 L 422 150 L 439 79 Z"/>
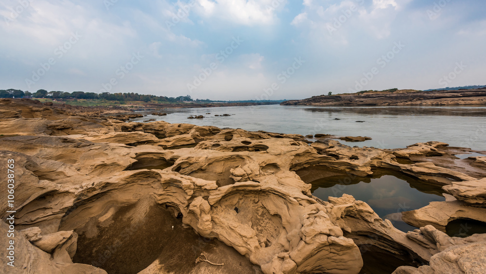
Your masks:
<path fill-rule="evenodd" d="M 0 89 L 303 99 L 486 85 L 484 0 L 2 0 Z"/>

